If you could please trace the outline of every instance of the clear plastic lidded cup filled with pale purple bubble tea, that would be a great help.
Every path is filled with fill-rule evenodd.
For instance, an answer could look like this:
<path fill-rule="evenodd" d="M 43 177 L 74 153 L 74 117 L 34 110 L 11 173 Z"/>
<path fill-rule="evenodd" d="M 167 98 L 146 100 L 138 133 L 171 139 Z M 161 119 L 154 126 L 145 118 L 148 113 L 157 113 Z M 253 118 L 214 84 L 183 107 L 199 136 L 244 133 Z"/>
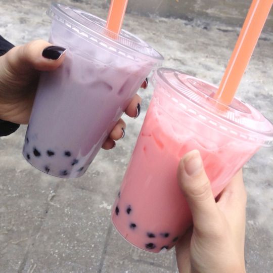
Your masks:
<path fill-rule="evenodd" d="M 163 57 L 146 42 L 84 11 L 53 4 L 50 42 L 64 63 L 40 77 L 23 155 L 35 168 L 81 176 L 151 70 Z M 111 38 L 113 37 L 113 38 Z"/>

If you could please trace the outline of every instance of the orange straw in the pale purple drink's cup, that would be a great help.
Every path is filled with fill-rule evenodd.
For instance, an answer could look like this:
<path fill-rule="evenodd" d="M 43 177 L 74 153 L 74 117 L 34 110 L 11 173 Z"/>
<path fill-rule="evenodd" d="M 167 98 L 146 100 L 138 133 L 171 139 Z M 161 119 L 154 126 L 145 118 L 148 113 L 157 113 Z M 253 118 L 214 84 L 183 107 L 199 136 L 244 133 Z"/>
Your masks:
<path fill-rule="evenodd" d="M 116 34 L 119 34 L 128 0 L 111 0 L 109 13 L 107 17 L 106 28 Z"/>

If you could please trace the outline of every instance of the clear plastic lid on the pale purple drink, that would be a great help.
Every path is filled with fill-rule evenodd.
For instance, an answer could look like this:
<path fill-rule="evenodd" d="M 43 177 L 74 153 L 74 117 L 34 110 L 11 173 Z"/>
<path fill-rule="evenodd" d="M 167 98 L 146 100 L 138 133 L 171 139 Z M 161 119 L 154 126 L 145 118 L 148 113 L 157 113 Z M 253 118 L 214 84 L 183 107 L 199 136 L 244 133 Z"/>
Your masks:
<path fill-rule="evenodd" d="M 151 61 L 160 65 L 163 57 L 135 35 L 121 30 L 115 34 L 106 29 L 106 21 L 82 10 L 53 3 L 48 15 L 91 43 L 105 50 L 130 58 Z"/>

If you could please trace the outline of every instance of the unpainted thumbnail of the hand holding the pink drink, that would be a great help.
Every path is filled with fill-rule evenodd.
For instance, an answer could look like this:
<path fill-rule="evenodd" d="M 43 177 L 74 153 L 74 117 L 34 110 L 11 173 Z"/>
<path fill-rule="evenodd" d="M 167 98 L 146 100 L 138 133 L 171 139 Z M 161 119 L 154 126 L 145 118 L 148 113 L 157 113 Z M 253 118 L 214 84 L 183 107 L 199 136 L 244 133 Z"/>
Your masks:
<path fill-rule="evenodd" d="M 203 162 L 198 150 L 193 150 L 186 154 L 183 159 L 184 168 L 189 176 L 198 174 L 202 167 Z"/>

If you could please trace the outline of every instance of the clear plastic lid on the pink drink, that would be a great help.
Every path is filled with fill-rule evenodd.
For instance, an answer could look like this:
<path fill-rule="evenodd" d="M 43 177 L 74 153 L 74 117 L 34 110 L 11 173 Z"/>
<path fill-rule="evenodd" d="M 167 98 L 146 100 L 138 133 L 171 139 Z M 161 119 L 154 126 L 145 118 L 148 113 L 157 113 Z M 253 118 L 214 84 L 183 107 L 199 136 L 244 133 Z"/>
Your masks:
<path fill-rule="evenodd" d="M 234 138 L 273 146 L 273 124 L 252 106 L 235 98 L 230 106 L 214 100 L 217 87 L 181 71 L 159 68 L 153 81 L 177 105 L 208 126 Z"/>

